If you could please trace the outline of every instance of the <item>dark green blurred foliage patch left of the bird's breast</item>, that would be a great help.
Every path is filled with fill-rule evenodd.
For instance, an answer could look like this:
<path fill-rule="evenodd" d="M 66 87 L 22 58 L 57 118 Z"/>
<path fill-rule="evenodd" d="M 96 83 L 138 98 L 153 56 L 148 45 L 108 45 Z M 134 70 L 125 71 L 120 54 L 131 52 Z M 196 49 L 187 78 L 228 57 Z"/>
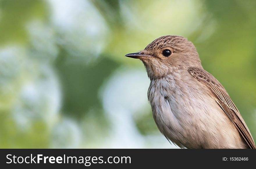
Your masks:
<path fill-rule="evenodd" d="M 84 63 L 66 64 L 65 53 L 59 54 L 56 69 L 63 84 L 63 110 L 81 118 L 90 108 L 99 107 L 101 103 L 97 95 L 98 89 L 116 68 L 117 63 L 106 57 L 85 66 Z"/>

